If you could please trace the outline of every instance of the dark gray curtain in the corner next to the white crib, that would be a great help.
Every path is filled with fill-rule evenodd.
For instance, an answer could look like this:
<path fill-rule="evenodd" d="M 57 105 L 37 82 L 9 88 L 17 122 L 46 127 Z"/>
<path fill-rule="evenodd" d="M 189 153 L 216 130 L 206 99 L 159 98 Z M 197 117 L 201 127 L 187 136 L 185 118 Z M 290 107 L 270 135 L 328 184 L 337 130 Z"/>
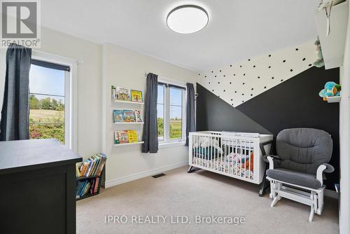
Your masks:
<path fill-rule="evenodd" d="M 195 88 L 193 83 L 186 83 L 187 104 L 186 104 L 186 146 L 188 146 L 188 132 L 195 132 Z"/>

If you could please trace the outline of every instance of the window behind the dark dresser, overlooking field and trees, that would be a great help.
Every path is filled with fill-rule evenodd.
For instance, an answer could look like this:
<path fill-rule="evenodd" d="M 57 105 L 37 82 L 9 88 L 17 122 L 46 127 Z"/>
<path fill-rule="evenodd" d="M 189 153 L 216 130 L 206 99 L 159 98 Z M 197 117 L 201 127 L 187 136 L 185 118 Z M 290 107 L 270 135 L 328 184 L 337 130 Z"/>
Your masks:
<path fill-rule="evenodd" d="M 73 149 L 71 67 L 31 60 L 29 71 L 29 137 L 58 139 Z"/>

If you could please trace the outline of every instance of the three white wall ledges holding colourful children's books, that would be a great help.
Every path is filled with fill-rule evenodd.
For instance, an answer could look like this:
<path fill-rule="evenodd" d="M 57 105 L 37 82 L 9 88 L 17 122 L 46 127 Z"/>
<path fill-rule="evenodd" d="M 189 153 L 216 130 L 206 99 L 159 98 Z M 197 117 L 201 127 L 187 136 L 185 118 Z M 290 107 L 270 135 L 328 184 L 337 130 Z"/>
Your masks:
<path fill-rule="evenodd" d="M 113 146 L 127 146 L 142 144 L 141 128 L 144 117 L 140 108 L 126 108 L 129 104 L 144 104 L 143 92 L 140 90 L 129 90 L 118 86 L 111 86 L 111 100 L 120 105 L 113 109 L 112 122 L 118 126 L 113 132 Z M 122 105 L 123 104 L 123 105 Z M 133 106 L 135 107 L 135 106 Z M 140 106 L 141 107 L 141 106 Z M 130 125 L 133 129 L 123 129 L 122 126 Z"/>

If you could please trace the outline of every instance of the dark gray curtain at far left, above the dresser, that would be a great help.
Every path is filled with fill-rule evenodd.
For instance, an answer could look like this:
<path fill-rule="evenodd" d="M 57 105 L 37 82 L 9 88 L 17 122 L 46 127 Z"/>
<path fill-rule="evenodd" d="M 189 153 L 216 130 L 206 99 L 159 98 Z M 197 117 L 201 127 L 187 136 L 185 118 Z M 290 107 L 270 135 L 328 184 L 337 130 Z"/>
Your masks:
<path fill-rule="evenodd" d="M 8 46 L 0 122 L 0 140 L 29 139 L 29 69 L 31 49 Z"/>

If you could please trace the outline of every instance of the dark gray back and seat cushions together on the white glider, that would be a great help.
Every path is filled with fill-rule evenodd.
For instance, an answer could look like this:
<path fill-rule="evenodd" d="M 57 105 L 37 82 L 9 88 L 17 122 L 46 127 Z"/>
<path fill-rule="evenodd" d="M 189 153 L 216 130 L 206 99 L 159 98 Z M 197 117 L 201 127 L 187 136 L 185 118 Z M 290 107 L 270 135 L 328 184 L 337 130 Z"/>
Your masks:
<path fill-rule="evenodd" d="M 321 188 L 316 171 L 332 156 L 332 139 L 328 132 L 313 128 L 282 130 L 276 137 L 276 151 L 279 159 L 274 160 L 274 169 L 267 170 L 267 177 L 308 188 Z"/>

